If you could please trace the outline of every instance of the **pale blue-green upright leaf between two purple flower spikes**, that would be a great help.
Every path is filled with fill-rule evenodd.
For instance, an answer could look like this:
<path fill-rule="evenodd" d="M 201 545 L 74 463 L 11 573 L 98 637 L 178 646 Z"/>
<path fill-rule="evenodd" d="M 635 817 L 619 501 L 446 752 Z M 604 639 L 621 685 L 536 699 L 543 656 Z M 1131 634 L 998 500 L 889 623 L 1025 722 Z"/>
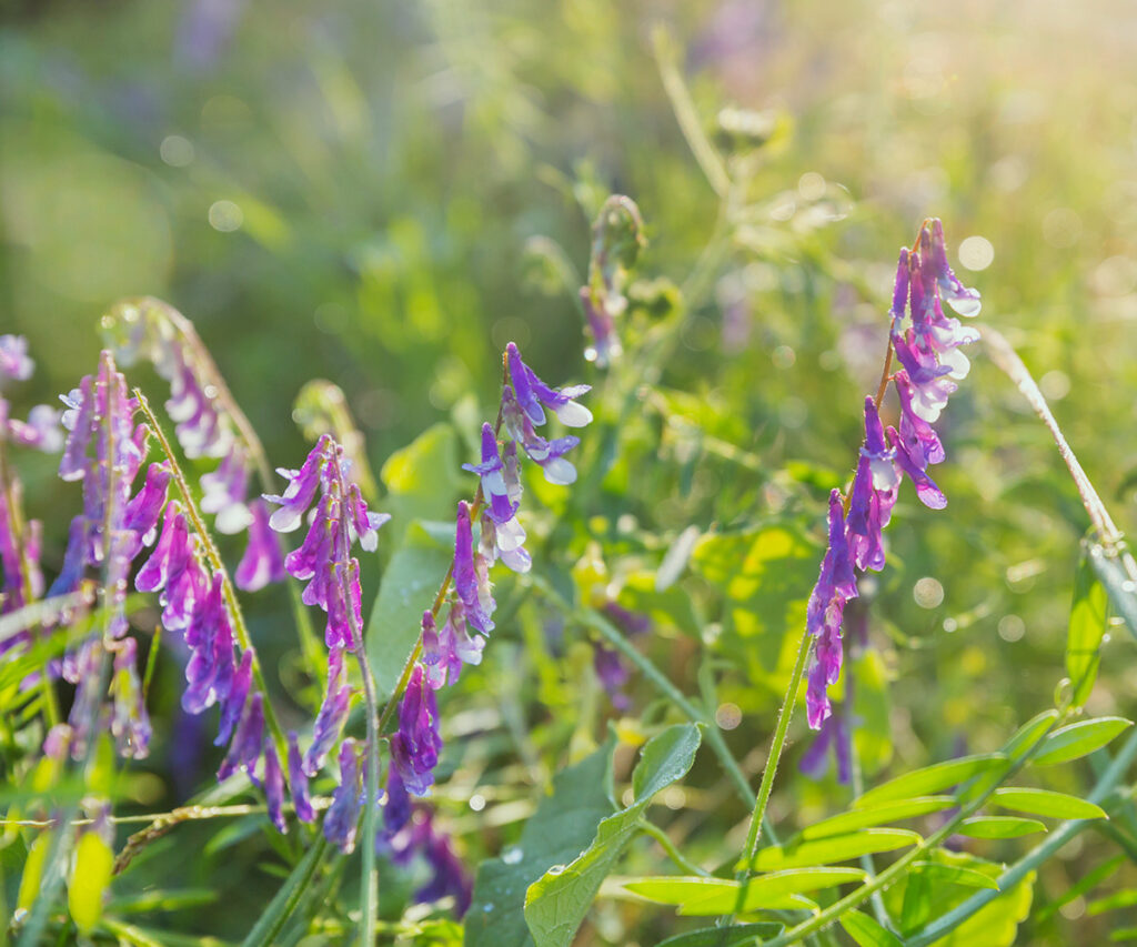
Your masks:
<path fill-rule="evenodd" d="M 430 607 L 450 566 L 454 549 L 440 542 L 423 523 L 412 523 L 402 545 L 383 572 L 367 622 L 367 656 L 375 671 L 379 696 L 393 693 L 422 630 Z M 453 534 L 453 533 L 451 533 Z"/>

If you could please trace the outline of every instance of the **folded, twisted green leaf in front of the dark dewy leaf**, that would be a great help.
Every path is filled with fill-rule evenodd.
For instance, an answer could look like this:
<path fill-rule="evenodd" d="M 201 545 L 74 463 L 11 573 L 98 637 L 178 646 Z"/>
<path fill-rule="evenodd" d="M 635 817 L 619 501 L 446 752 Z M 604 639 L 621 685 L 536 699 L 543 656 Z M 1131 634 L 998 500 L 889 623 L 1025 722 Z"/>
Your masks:
<path fill-rule="evenodd" d="M 525 895 L 525 922 L 537 947 L 565 947 L 572 942 L 600 883 L 624 846 L 636 834 L 636 823 L 656 792 L 682 779 L 695 762 L 700 732 L 695 724 L 675 724 L 644 747 L 632 773 L 636 801 L 605 819 L 588 850 L 561 871 L 550 869 Z"/>

